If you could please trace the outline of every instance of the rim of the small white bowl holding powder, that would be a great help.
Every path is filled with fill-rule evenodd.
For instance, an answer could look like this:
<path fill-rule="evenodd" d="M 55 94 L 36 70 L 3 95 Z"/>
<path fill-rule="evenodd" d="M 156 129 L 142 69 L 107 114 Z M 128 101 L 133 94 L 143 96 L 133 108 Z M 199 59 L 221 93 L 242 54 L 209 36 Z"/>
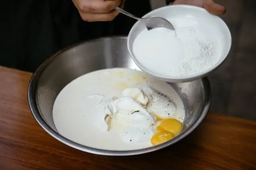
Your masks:
<path fill-rule="evenodd" d="M 225 30 L 227 30 L 227 36 L 230 38 L 230 43 L 228 45 L 228 50 L 226 51 L 225 55 L 223 55 L 224 57 L 221 58 L 221 60 L 219 60 L 219 63 L 215 64 L 214 66 L 210 67 L 207 70 L 204 70 L 203 72 L 197 73 L 197 74 L 193 74 L 191 76 L 184 76 L 184 77 L 171 77 L 171 76 L 162 76 L 160 74 L 156 74 L 154 72 L 149 71 L 148 69 L 146 69 L 142 64 L 140 64 L 140 62 L 137 60 L 137 58 L 133 55 L 132 53 L 132 47 L 130 47 L 130 39 L 131 36 L 130 34 L 132 34 L 132 32 L 134 32 L 135 28 L 137 27 L 137 25 L 139 24 L 139 21 L 137 21 L 131 28 L 129 34 L 128 34 L 128 40 L 127 40 L 127 47 L 128 47 L 128 51 L 130 53 L 130 56 L 132 57 L 132 60 L 135 62 L 135 64 L 144 72 L 147 72 L 148 74 L 150 74 L 151 76 L 164 80 L 164 81 L 168 81 L 170 83 L 184 83 L 184 82 L 188 82 L 188 81 L 193 81 L 196 79 L 199 79 L 201 77 L 206 76 L 206 74 L 216 70 L 217 68 L 219 68 L 219 66 L 221 66 L 221 64 L 223 64 L 223 62 L 226 60 L 226 58 L 228 57 L 228 54 L 230 52 L 231 46 L 232 46 L 232 36 L 231 36 L 231 32 L 230 29 L 228 28 L 227 24 L 223 21 L 223 19 L 221 19 L 219 16 L 217 15 L 213 15 L 211 13 L 209 13 L 208 11 L 206 11 L 206 9 L 198 7 L 198 6 L 193 6 L 193 5 L 182 5 L 182 4 L 175 4 L 175 5 L 168 5 L 168 6 L 163 6 L 160 8 L 157 8 L 147 14 L 145 14 L 142 18 L 144 17 L 149 17 L 151 15 L 154 15 L 154 13 L 157 13 L 158 11 L 162 11 L 165 8 L 171 9 L 171 8 L 178 8 L 178 7 L 182 7 L 182 8 L 189 8 L 189 9 L 193 9 L 196 11 L 202 11 L 205 12 L 206 15 L 212 15 L 214 17 L 216 17 L 217 19 L 219 19 L 219 22 L 223 24 L 223 26 L 225 27 Z"/>

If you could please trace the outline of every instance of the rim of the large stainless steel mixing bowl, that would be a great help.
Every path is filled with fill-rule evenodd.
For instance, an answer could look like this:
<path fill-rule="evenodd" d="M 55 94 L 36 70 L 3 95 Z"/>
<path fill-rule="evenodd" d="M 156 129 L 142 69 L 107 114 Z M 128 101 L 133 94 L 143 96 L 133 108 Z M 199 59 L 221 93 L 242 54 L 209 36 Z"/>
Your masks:
<path fill-rule="evenodd" d="M 202 85 L 204 87 L 204 104 L 203 108 L 201 110 L 200 115 L 198 115 L 197 119 L 195 119 L 195 122 L 191 124 L 189 128 L 187 128 L 186 131 L 184 131 L 182 134 L 174 138 L 173 140 L 169 140 L 168 142 L 165 142 L 163 144 L 159 144 L 153 147 L 144 148 L 144 149 L 138 149 L 138 150 L 130 150 L 130 151 L 111 151 L 111 150 L 104 150 L 104 149 L 96 149 L 92 147 L 87 147 L 82 144 L 78 144 L 76 142 L 73 142 L 72 140 L 69 140 L 65 137 L 63 137 L 61 134 L 55 132 L 47 123 L 44 121 L 43 117 L 40 115 L 39 108 L 37 108 L 37 97 L 36 97 L 36 87 L 37 87 L 37 81 L 39 80 L 41 74 L 43 71 L 49 66 L 56 58 L 60 56 L 61 53 L 68 51 L 72 49 L 73 47 L 77 47 L 80 45 L 83 45 L 85 43 L 91 43 L 96 41 L 102 41 L 102 40 L 108 40 L 108 39 L 127 39 L 126 36 L 108 36 L 108 37 L 102 37 L 95 40 L 87 40 L 82 43 L 77 43 L 75 45 L 69 46 L 65 49 L 62 49 L 52 56 L 50 56 L 47 60 L 45 60 L 39 68 L 33 73 L 32 77 L 30 78 L 29 84 L 28 84 L 28 105 L 30 108 L 31 113 L 33 114 L 33 117 L 39 123 L 39 125 L 45 130 L 48 134 L 50 134 L 53 138 L 56 140 L 59 140 L 60 142 L 66 144 L 69 147 L 73 147 L 75 149 L 78 149 L 80 151 L 85 151 L 88 153 L 98 154 L 98 155 L 109 155 L 109 156 L 127 156 L 127 155 L 139 155 L 143 153 L 149 153 L 152 151 L 156 151 L 159 149 L 163 149 L 165 147 L 170 146 L 171 144 L 174 144 L 181 140 L 182 138 L 186 137 L 188 134 L 190 134 L 193 130 L 195 130 L 198 125 L 202 123 L 204 118 L 206 117 L 208 110 L 210 108 L 210 102 L 211 102 L 211 94 L 210 94 L 210 82 L 208 78 L 204 77 L 201 79 Z"/>

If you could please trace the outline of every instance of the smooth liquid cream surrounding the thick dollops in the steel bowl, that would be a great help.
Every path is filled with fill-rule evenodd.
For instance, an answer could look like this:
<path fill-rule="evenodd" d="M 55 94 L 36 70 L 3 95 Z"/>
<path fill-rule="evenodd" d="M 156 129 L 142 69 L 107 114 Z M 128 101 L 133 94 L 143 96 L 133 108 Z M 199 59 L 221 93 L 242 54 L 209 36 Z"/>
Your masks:
<path fill-rule="evenodd" d="M 177 117 L 185 116 L 184 105 L 170 85 L 141 71 L 114 68 L 85 74 L 64 87 L 54 102 L 54 124 L 61 135 L 88 147 L 119 151 L 151 147 L 150 141 L 124 142 L 118 126 L 107 131 L 104 112 L 97 107 L 104 100 L 121 96 L 126 88 L 145 86 L 171 98 L 177 105 Z"/>

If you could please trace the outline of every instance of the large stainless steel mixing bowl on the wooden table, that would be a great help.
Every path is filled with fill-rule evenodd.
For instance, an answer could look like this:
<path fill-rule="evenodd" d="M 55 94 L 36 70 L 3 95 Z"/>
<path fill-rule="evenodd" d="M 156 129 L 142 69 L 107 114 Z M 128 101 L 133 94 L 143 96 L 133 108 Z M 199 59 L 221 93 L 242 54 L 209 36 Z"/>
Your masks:
<path fill-rule="evenodd" d="M 70 147 L 101 155 L 137 155 L 156 151 L 174 144 L 200 125 L 210 106 L 210 84 L 207 78 L 188 83 L 170 83 L 184 102 L 185 126 L 182 133 L 158 146 L 133 151 L 106 151 L 86 147 L 58 133 L 52 119 L 52 107 L 57 95 L 70 81 L 83 74 L 104 68 L 139 68 L 131 59 L 126 37 L 91 40 L 64 49 L 46 60 L 35 71 L 28 85 L 28 102 L 33 116 L 55 139 Z"/>

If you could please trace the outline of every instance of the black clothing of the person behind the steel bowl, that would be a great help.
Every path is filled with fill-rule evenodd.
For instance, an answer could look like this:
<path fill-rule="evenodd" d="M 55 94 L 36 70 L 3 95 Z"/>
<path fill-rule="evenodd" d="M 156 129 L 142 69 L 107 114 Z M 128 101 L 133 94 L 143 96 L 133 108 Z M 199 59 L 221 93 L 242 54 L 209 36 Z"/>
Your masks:
<path fill-rule="evenodd" d="M 0 65 L 33 72 L 56 51 L 84 40 L 127 35 L 136 20 L 119 15 L 110 22 L 86 22 L 71 0 L 1 2 Z M 126 0 L 138 16 L 150 11 L 148 0 Z"/>

